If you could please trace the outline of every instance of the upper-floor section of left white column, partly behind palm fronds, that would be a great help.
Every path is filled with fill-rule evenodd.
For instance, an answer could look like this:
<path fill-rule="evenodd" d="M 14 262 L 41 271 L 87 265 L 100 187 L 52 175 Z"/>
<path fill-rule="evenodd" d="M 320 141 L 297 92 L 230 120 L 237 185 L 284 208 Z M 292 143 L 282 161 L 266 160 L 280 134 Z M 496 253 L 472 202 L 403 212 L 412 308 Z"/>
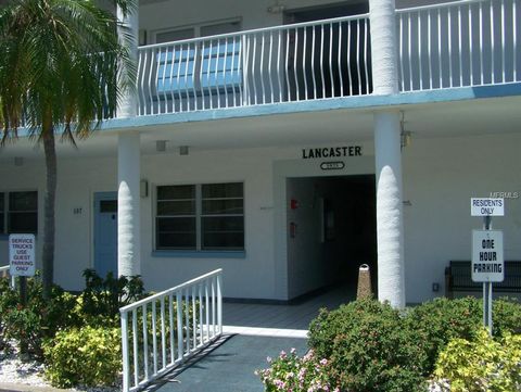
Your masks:
<path fill-rule="evenodd" d="M 132 60 L 134 64 L 138 64 L 138 37 L 139 37 L 139 10 L 136 7 L 136 10 L 130 10 L 127 12 L 126 15 L 122 12 L 122 9 L 117 8 L 117 20 L 123 24 L 118 28 L 118 37 L 119 41 L 124 43 L 129 49 L 130 59 Z M 127 69 L 125 69 L 127 71 Z M 124 73 L 126 76 L 126 72 Z M 128 76 L 122 78 L 122 81 L 131 81 L 135 84 L 135 76 Z M 117 117 L 118 118 L 129 118 L 135 117 L 137 115 L 138 110 L 138 96 L 137 89 L 132 88 L 135 86 L 125 85 L 122 83 L 119 86 L 123 97 L 120 102 L 117 105 Z"/>

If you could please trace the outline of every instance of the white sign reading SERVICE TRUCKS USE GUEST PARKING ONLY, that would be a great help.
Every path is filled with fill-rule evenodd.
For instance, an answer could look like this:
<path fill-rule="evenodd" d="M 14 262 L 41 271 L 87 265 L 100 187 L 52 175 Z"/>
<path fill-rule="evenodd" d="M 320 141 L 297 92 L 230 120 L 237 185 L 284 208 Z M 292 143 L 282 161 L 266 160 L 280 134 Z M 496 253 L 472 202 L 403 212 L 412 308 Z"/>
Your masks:
<path fill-rule="evenodd" d="M 9 265 L 11 276 L 35 275 L 35 235 L 9 236 Z"/>

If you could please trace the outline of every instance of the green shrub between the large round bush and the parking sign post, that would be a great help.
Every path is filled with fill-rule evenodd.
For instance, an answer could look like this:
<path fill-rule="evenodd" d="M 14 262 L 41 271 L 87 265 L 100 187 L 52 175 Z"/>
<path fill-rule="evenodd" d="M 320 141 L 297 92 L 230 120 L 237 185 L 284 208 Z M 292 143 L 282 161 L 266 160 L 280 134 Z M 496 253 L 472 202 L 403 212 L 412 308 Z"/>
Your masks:
<path fill-rule="evenodd" d="M 473 339 L 482 326 L 482 308 L 476 299 L 435 299 L 409 311 L 405 328 L 420 337 L 418 344 L 425 353 L 422 364 L 428 376 L 434 369 L 437 355 L 455 338 Z"/>

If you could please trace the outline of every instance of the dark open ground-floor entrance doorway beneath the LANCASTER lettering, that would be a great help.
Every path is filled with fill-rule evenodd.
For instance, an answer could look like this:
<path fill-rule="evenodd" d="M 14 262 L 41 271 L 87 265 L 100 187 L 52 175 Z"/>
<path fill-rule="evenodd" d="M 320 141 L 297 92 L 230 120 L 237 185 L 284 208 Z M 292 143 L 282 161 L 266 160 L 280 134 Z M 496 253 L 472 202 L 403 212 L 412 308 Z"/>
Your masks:
<path fill-rule="evenodd" d="M 287 198 L 289 298 L 333 284 L 356 293 L 361 264 L 376 294 L 374 175 L 288 178 Z"/>

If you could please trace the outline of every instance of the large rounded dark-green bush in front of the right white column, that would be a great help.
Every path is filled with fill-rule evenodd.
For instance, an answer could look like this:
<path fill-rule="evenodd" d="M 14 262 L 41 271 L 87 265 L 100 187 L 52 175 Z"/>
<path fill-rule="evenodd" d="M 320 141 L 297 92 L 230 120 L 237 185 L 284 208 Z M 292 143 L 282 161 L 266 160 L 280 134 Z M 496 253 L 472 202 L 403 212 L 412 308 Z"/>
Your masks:
<path fill-rule="evenodd" d="M 418 341 L 399 312 L 374 300 L 321 311 L 309 328 L 310 347 L 346 391 L 424 391 Z"/>

